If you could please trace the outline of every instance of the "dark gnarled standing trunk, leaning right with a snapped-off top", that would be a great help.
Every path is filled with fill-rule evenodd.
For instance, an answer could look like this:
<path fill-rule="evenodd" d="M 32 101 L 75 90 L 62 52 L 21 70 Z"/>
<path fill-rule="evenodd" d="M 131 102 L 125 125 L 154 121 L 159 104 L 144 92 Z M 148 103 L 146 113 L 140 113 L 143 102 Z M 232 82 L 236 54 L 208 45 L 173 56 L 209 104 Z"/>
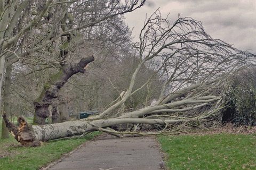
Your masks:
<path fill-rule="evenodd" d="M 53 75 L 44 85 L 41 95 L 34 101 L 34 124 L 45 124 L 45 118 L 50 115 L 49 106 L 52 99 L 58 97 L 60 88 L 76 73 L 84 73 L 86 65 L 94 61 L 94 57 L 82 58 L 77 64 L 62 65 L 60 71 Z"/>

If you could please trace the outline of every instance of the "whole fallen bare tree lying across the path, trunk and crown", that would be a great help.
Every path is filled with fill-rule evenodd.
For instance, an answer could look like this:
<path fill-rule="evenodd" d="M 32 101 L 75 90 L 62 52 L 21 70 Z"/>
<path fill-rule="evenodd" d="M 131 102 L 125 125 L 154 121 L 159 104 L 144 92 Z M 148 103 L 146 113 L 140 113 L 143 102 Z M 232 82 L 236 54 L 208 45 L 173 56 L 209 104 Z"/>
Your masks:
<path fill-rule="evenodd" d="M 181 18 L 170 24 L 156 12 L 140 33 L 140 42 L 134 44 L 139 62 L 131 77 L 130 86 L 99 115 L 83 120 L 49 125 L 30 125 L 22 117 L 19 128 L 4 116 L 9 130 L 22 145 L 35 141 L 48 141 L 91 131 L 103 131 L 118 137 L 168 133 L 173 125 L 201 123 L 209 118 L 218 120 L 226 107 L 228 77 L 243 67 L 252 65 L 254 54 L 243 52 L 204 32 L 202 23 Z M 134 84 L 142 65 L 154 63 L 156 73 L 163 79 L 162 91 L 143 108 L 130 112 L 124 103 L 133 94 L 150 83 L 146 80 L 135 89 Z M 116 131 L 113 126 L 134 124 L 134 128 Z M 158 130 L 143 132 L 140 124 L 159 125 Z"/>

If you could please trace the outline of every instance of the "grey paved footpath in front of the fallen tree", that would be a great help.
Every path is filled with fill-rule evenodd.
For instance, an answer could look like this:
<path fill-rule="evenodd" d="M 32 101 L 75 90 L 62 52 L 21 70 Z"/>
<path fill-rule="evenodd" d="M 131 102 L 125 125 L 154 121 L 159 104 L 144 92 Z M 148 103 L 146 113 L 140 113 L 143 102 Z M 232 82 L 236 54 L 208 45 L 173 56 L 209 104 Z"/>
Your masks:
<path fill-rule="evenodd" d="M 43 169 L 161 169 L 163 154 L 153 136 L 116 138 L 101 134 Z"/>

